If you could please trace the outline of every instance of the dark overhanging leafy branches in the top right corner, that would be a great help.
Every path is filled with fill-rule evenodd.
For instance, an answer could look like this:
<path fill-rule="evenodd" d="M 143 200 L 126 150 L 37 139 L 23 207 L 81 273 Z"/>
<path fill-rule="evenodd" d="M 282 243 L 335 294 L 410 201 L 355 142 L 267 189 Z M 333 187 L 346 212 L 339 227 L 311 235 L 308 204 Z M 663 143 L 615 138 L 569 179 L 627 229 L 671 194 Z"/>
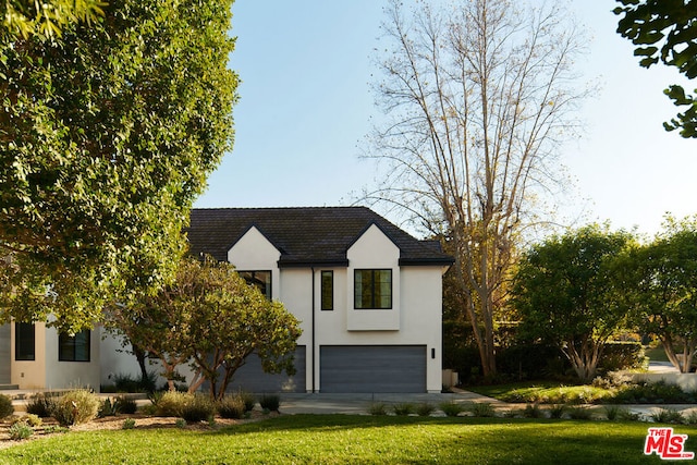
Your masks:
<path fill-rule="evenodd" d="M 639 64 L 649 68 L 659 61 L 677 68 L 689 79 L 697 77 L 697 1 L 695 0 L 617 0 L 622 7 L 614 13 L 622 17 L 617 33 L 637 46 L 634 54 Z M 695 90 L 697 91 L 697 90 Z M 697 96 L 683 86 L 664 90 L 685 111 L 670 122 L 667 131 L 680 130 L 683 137 L 697 137 Z"/>

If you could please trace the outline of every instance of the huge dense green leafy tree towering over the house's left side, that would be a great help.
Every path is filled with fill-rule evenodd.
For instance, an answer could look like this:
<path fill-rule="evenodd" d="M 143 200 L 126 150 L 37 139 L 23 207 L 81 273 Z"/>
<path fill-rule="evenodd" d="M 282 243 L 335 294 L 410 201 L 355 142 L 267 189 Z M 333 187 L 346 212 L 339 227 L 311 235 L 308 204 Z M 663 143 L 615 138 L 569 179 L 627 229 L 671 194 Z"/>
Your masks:
<path fill-rule="evenodd" d="M 231 147 L 232 0 L 114 0 L 0 42 L 0 320 L 76 330 L 156 290 Z"/>

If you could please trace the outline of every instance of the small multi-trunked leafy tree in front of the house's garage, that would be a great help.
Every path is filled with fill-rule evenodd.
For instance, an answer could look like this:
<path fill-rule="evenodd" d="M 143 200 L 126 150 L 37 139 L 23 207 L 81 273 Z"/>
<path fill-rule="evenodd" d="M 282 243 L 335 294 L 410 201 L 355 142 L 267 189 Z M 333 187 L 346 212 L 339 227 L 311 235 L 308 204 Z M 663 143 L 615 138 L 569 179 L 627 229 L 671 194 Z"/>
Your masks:
<path fill-rule="evenodd" d="M 187 364 L 196 374 L 189 391 L 207 380 L 211 396 L 221 397 L 252 353 L 269 372 L 294 372 L 299 321 L 227 262 L 185 258 L 172 284 L 108 315 L 112 330 L 161 362 L 170 389 Z"/>

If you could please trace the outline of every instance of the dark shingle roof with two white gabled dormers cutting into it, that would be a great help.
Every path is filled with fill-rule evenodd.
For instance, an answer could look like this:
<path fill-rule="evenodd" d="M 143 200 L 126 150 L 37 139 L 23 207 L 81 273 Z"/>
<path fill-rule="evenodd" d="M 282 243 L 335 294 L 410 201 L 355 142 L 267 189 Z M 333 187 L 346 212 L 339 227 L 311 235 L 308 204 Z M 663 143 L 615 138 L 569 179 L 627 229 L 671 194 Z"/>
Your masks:
<path fill-rule="evenodd" d="M 346 250 L 376 224 L 400 248 L 400 265 L 451 265 L 433 241 L 419 241 L 365 207 L 194 209 L 189 253 L 227 260 L 228 250 L 256 227 L 281 252 L 279 267 L 346 266 Z"/>

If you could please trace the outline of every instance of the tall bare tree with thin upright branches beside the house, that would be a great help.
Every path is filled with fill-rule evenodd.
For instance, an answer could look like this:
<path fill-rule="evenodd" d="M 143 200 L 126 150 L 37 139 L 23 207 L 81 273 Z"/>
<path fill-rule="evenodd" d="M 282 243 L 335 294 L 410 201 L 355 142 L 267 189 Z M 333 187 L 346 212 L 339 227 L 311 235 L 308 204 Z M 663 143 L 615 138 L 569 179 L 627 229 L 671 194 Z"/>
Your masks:
<path fill-rule="evenodd" d="M 389 46 L 376 85 L 387 113 L 368 157 L 387 162 L 368 198 L 408 209 L 449 237 L 462 307 L 484 367 L 496 374 L 497 315 L 515 243 L 535 196 L 558 183 L 560 143 L 576 134 L 573 60 L 584 42 L 558 5 L 516 10 L 504 0 L 392 0 Z"/>

